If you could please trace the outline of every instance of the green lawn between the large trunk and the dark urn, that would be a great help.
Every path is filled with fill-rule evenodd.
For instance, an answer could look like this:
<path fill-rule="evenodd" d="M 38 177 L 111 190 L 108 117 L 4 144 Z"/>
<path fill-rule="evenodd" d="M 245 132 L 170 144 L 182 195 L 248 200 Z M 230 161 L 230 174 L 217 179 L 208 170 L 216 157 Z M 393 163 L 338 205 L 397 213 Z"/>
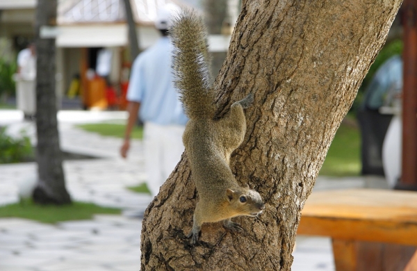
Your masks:
<path fill-rule="evenodd" d="M 327 152 L 320 175 L 358 176 L 361 172 L 359 128 L 341 124 Z"/>

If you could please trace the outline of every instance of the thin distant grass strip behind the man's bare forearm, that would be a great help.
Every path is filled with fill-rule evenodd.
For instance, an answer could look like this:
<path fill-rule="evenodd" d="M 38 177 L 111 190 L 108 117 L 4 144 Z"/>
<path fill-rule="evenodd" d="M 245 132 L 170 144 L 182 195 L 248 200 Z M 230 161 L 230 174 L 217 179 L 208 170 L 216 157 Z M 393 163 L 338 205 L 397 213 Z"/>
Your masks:
<path fill-rule="evenodd" d="M 115 138 L 124 138 L 125 124 L 112 124 L 112 123 L 95 123 L 95 124 L 81 124 L 77 127 L 93 133 L 99 133 L 101 136 L 113 136 Z M 140 126 L 135 126 L 131 133 L 131 138 L 142 139 L 143 129 Z"/>

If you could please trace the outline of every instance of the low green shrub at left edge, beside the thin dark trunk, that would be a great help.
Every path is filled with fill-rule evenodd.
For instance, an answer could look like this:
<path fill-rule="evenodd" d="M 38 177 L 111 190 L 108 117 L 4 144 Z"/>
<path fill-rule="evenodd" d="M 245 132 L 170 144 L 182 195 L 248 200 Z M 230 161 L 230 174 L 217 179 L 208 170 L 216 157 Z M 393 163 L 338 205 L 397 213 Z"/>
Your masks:
<path fill-rule="evenodd" d="M 0 129 L 0 164 L 19 163 L 33 156 L 31 140 L 22 132 L 21 138 L 12 138 Z"/>

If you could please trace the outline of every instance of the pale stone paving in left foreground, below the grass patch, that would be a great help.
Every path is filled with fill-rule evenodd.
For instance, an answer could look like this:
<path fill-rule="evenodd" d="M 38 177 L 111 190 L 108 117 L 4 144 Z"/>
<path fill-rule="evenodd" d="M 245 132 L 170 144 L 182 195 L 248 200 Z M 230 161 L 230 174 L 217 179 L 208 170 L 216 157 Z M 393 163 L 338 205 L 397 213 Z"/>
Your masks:
<path fill-rule="evenodd" d="M 0 270 L 138 271 L 140 228 L 120 215 L 56 225 L 0 219 Z"/>

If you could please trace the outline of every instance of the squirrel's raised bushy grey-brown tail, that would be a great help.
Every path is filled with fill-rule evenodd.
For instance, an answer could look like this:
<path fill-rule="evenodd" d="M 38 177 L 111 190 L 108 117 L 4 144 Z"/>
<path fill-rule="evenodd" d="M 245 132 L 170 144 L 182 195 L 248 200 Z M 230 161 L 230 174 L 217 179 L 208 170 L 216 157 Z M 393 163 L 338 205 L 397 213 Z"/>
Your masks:
<path fill-rule="evenodd" d="M 174 44 L 174 84 L 191 120 L 213 118 L 207 31 L 201 17 L 182 11 L 170 30 Z"/>

